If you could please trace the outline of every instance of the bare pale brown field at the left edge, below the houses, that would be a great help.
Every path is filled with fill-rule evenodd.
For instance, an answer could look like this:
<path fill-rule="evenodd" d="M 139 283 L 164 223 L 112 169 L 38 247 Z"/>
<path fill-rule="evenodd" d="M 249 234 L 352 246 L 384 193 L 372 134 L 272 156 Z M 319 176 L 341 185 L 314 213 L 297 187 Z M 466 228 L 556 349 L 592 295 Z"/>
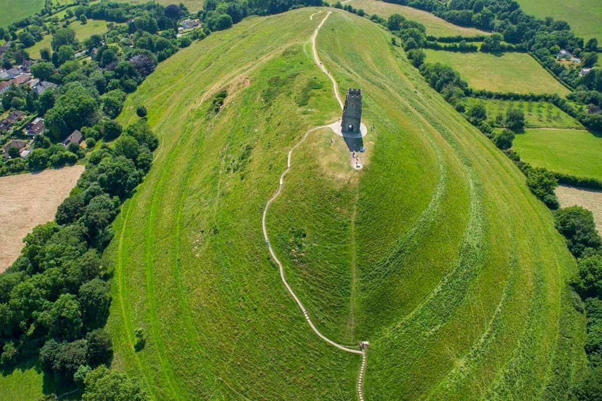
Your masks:
<path fill-rule="evenodd" d="M 0 178 L 0 272 L 19 256 L 23 237 L 54 219 L 84 166 Z"/>

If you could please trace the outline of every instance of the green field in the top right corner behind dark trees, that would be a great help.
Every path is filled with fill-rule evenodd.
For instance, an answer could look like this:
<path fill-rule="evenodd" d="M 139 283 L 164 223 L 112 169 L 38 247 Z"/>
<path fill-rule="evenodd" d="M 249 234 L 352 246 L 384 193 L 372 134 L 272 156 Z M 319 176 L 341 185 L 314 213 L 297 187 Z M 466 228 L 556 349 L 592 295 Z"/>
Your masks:
<path fill-rule="evenodd" d="M 571 25 L 577 36 L 597 38 L 602 44 L 602 1 L 600 0 L 517 0 L 527 13 L 539 18 L 553 17 Z"/>

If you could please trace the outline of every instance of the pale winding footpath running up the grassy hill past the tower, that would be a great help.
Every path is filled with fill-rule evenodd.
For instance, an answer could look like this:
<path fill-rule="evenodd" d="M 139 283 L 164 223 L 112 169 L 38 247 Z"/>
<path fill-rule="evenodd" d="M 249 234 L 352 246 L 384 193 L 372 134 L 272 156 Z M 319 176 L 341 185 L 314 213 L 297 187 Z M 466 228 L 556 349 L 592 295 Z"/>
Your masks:
<path fill-rule="evenodd" d="M 312 45 L 312 52 L 314 54 L 315 63 L 318 65 L 318 67 L 320 67 L 320 69 L 324 72 L 324 74 L 326 74 L 330 78 L 330 80 L 332 81 L 332 86 L 333 86 L 333 89 L 334 89 L 335 98 L 337 99 L 339 105 L 341 106 L 341 109 L 343 109 L 343 101 L 341 100 L 341 97 L 338 94 L 337 81 L 330 74 L 330 72 L 328 70 L 326 70 L 326 68 L 324 67 L 324 65 L 320 61 L 320 58 L 318 57 L 317 47 L 315 45 L 315 39 L 316 39 L 316 37 L 318 35 L 318 32 L 320 31 L 320 28 L 324 25 L 324 22 L 326 22 L 326 19 L 328 19 L 328 17 L 330 16 L 331 13 L 332 13 L 332 11 L 328 11 L 326 13 L 326 16 L 324 17 L 324 19 L 321 20 L 320 24 L 317 26 L 317 28 L 315 28 L 314 34 L 311 37 L 311 45 Z M 313 17 L 314 17 L 314 15 L 315 14 L 312 14 L 309 17 L 309 19 L 312 20 Z M 287 173 L 291 170 L 291 157 L 293 155 L 294 149 L 296 149 L 299 145 L 301 145 L 301 143 L 303 143 L 305 141 L 305 139 L 307 139 L 307 137 L 309 136 L 310 133 L 312 133 L 313 131 L 319 130 L 320 128 L 327 128 L 327 127 L 329 127 L 329 125 L 320 125 L 319 127 L 311 128 L 310 130 L 308 130 L 305 133 L 305 135 L 303 135 L 303 137 L 299 140 L 299 142 L 297 142 L 288 151 L 287 169 L 284 170 L 284 172 L 280 176 L 278 190 L 276 190 L 276 193 L 274 193 L 273 196 L 265 204 L 263 216 L 262 216 L 262 219 L 261 219 L 261 228 L 263 230 L 265 243 L 267 244 L 268 250 L 270 251 L 270 255 L 272 255 L 272 259 L 276 262 L 276 264 L 278 265 L 278 268 L 280 270 L 280 277 L 282 279 L 282 283 L 284 283 L 284 286 L 287 288 L 288 292 L 291 294 L 291 297 L 293 297 L 293 299 L 295 300 L 295 302 L 299 306 L 299 309 L 301 309 L 301 312 L 303 313 L 303 316 L 305 317 L 305 320 L 309 324 L 309 327 L 311 327 L 311 329 L 314 331 L 314 333 L 318 337 L 320 337 L 320 339 L 324 340 L 325 342 L 329 343 L 332 346 L 335 346 L 336 348 L 340 349 L 341 351 L 350 352 L 351 354 L 362 355 L 362 363 L 361 363 L 361 366 L 359 368 L 359 376 L 358 376 L 358 398 L 359 398 L 360 401 L 364 401 L 364 373 L 365 373 L 365 370 L 366 370 L 366 357 L 367 357 L 367 353 L 365 351 L 365 348 L 361 347 L 360 349 L 353 349 L 353 348 L 349 348 L 347 346 L 341 345 L 341 344 L 339 344 L 337 342 L 334 342 L 333 340 L 330 340 L 328 337 L 324 336 L 324 334 L 320 333 L 320 330 L 318 330 L 318 328 L 315 327 L 314 322 L 312 322 L 311 318 L 309 318 L 309 315 L 308 315 L 307 310 L 305 309 L 305 306 L 303 306 L 303 304 L 301 303 L 301 301 L 299 300 L 299 298 L 297 297 L 297 295 L 294 293 L 294 291 L 291 288 L 291 286 L 288 285 L 287 279 L 286 279 L 285 274 L 284 274 L 284 267 L 282 266 L 282 262 L 278 259 L 278 256 L 276 256 L 276 253 L 274 252 L 274 250 L 272 249 L 272 245 L 270 244 L 270 238 L 268 237 L 267 226 L 266 226 L 266 223 L 265 223 L 265 220 L 267 218 L 267 212 L 268 212 L 268 209 L 270 208 L 270 205 L 276 199 L 276 197 L 278 197 L 282 193 L 282 186 L 284 185 L 284 176 L 287 175 Z M 362 344 L 363 343 L 364 342 L 362 342 Z M 367 344 L 367 342 L 366 342 L 366 344 Z"/>

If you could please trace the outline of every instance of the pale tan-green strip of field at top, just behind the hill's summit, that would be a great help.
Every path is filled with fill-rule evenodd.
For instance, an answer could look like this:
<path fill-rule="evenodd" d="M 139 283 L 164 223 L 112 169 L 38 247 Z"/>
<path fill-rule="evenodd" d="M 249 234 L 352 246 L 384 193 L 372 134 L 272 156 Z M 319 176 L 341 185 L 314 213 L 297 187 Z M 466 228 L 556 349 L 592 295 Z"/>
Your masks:
<path fill-rule="evenodd" d="M 488 32 L 481 31 L 480 29 L 454 25 L 453 23 L 434 16 L 428 11 L 418 10 L 418 8 L 412 8 L 406 5 L 387 3 L 380 0 L 350 0 L 345 4 L 352 5 L 353 8 L 363 8 L 367 14 L 377 14 L 383 18 L 388 18 L 394 13 L 402 14 L 402 16 L 406 17 L 407 19 L 420 22 L 426 26 L 427 35 L 433 35 L 436 37 L 456 35 L 471 37 L 489 34 Z"/>

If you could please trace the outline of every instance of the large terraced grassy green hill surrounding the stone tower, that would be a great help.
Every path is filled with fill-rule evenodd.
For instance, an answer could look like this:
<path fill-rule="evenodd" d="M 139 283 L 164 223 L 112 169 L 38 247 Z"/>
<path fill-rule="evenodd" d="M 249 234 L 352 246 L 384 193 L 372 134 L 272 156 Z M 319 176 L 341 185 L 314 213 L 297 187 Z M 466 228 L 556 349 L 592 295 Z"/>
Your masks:
<path fill-rule="evenodd" d="M 113 366 L 155 399 L 356 397 L 360 358 L 311 331 L 261 229 L 288 149 L 340 115 L 312 58 L 324 11 L 210 35 L 124 107 L 147 107 L 161 145 L 109 250 Z M 366 399 L 563 397 L 585 361 L 574 261 L 521 173 L 390 43 L 344 11 L 320 29 L 341 95 L 364 91 L 367 153 L 354 170 L 325 129 L 296 148 L 267 219 L 285 274 L 326 336 L 370 340 Z"/>

